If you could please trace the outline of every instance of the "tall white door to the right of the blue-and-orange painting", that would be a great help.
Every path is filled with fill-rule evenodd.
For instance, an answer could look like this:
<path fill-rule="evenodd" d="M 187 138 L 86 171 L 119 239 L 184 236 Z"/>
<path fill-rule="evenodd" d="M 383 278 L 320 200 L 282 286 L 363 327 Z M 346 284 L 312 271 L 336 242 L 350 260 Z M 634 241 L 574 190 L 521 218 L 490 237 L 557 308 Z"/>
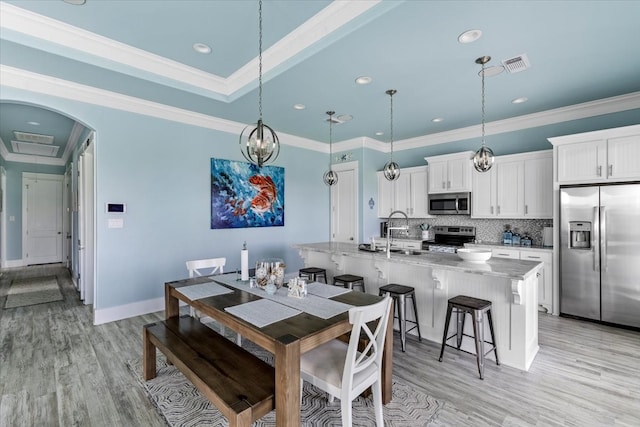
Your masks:
<path fill-rule="evenodd" d="M 331 187 L 331 240 L 358 240 L 358 162 L 332 166 L 338 183 Z"/>

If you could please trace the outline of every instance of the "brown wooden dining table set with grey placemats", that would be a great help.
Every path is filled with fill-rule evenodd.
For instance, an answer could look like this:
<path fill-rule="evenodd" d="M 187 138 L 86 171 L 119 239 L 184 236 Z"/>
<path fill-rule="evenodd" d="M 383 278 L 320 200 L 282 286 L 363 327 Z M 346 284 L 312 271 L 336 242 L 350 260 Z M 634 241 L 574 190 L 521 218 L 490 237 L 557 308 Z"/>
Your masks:
<path fill-rule="evenodd" d="M 300 425 L 300 355 L 351 331 L 349 308 L 382 297 L 339 286 L 309 283 L 307 296 L 270 295 L 235 273 L 165 283 L 165 316 L 180 315 L 180 301 L 274 355 L 277 426 Z M 392 309 L 393 310 L 393 309 Z M 393 311 L 392 311 L 393 313 Z M 382 359 L 382 400 L 392 396 L 393 321 L 387 325 Z"/>

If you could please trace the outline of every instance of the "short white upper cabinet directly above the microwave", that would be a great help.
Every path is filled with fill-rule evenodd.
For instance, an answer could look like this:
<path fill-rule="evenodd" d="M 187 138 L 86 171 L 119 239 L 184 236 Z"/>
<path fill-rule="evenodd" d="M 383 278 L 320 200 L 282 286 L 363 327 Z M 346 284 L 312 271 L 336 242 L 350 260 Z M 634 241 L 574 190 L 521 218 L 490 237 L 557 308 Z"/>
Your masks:
<path fill-rule="evenodd" d="M 425 157 L 429 165 L 429 194 L 471 191 L 473 152 Z"/>

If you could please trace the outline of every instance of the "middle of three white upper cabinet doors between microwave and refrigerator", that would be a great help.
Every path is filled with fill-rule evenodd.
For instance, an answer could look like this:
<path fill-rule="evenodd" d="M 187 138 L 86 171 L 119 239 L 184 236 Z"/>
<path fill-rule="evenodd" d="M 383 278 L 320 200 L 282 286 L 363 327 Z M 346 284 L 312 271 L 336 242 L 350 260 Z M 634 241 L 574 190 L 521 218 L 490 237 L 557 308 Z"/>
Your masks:
<path fill-rule="evenodd" d="M 524 162 L 504 162 L 496 165 L 496 195 L 497 216 L 524 216 Z"/>

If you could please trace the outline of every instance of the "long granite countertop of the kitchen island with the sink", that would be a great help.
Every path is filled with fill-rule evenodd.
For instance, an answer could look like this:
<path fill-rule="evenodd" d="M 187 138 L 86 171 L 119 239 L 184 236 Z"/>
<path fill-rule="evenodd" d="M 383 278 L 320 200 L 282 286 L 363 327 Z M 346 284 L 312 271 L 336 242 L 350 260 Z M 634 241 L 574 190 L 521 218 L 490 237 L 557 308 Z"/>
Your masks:
<path fill-rule="evenodd" d="M 368 252 L 358 249 L 354 243 L 320 242 L 299 243 L 292 245 L 295 249 L 311 250 L 335 255 L 346 255 L 372 260 L 391 261 L 401 264 L 418 265 L 431 268 L 443 268 L 446 270 L 463 273 L 495 276 L 510 280 L 526 280 L 536 274 L 543 264 L 535 261 L 516 259 L 490 258 L 486 262 L 475 263 L 462 261 L 456 254 L 421 251 L 420 255 L 404 255 L 392 253 L 387 259 L 385 252 Z"/>

